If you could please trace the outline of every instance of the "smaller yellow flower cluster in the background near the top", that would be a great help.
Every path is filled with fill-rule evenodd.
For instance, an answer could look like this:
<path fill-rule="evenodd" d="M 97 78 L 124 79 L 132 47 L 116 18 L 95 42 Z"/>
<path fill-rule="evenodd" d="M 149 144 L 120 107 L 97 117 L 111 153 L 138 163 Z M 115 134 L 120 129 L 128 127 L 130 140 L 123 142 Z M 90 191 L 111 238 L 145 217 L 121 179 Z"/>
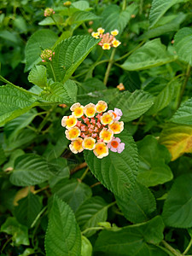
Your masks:
<path fill-rule="evenodd" d="M 119 31 L 117 29 L 113 30 L 110 33 L 103 34 L 105 30 L 102 27 L 99 27 L 97 29 L 97 32 L 92 32 L 91 36 L 93 38 L 101 38 L 101 41 L 99 42 L 99 45 L 102 46 L 102 49 L 111 49 L 111 47 L 117 48 L 119 44 L 119 40 L 115 38 L 119 34 Z"/>

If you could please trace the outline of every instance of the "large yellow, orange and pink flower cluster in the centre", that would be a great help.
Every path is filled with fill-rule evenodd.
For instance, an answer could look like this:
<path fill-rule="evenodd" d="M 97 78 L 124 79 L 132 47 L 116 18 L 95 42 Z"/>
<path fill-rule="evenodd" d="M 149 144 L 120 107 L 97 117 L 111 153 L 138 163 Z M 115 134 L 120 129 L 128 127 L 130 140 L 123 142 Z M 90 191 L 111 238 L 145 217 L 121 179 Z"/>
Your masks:
<path fill-rule="evenodd" d="M 101 159 L 108 155 L 108 148 L 118 153 L 125 149 L 125 143 L 114 137 L 124 130 L 124 122 L 119 121 L 122 112 L 119 108 L 105 112 L 107 108 L 103 101 L 86 106 L 78 102 L 70 108 L 72 114 L 62 118 L 61 125 L 67 128 L 66 137 L 72 141 L 69 148 L 74 154 L 88 149 Z"/>

